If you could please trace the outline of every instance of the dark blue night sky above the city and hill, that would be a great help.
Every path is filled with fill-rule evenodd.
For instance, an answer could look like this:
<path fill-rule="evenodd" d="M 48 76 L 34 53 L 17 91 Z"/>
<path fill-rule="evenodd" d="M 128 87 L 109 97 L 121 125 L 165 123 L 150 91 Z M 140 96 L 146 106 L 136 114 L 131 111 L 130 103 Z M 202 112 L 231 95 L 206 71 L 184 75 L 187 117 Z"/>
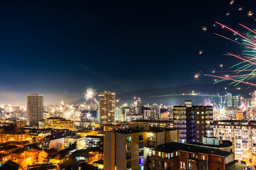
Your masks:
<path fill-rule="evenodd" d="M 4 104 L 24 104 L 28 93 L 44 94 L 46 104 L 73 102 L 87 86 L 120 93 L 212 83 L 194 75 L 228 68 L 237 60 L 222 54 L 241 51 L 213 34 L 234 38 L 214 21 L 239 30 L 256 23 L 246 13 L 256 13 L 254 1 L 7 2 L 0 6 Z"/>

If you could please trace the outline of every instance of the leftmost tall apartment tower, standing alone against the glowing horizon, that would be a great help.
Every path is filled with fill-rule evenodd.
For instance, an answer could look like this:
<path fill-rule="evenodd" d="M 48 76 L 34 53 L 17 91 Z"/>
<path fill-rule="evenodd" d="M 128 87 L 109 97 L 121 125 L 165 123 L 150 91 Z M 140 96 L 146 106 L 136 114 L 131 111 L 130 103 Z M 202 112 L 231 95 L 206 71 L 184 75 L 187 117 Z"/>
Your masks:
<path fill-rule="evenodd" d="M 38 125 L 44 117 L 44 96 L 39 94 L 27 95 L 27 125 Z"/>

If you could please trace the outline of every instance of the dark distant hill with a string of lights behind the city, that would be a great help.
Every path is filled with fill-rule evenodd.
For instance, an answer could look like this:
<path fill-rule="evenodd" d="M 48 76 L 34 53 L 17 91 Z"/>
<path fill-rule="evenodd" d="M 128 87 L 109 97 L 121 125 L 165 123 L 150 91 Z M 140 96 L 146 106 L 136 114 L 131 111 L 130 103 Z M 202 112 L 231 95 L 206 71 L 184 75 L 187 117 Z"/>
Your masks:
<path fill-rule="evenodd" d="M 227 89 L 225 89 L 225 87 Z M 241 90 L 237 88 L 240 87 Z M 204 98 L 211 98 L 207 96 L 188 96 L 188 95 L 180 95 L 180 96 L 167 96 L 167 97 L 150 97 L 150 96 L 159 96 L 159 95 L 168 95 L 168 94 L 182 94 L 182 93 L 191 93 L 194 91 L 195 93 L 201 94 L 212 94 L 220 95 L 226 94 L 226 92 L 232 93 L 232 95 L 238 94 L 247 94 L 255 90 L 254 87 L 250 87 L 240 84 L 237 87 L 227 86 L 226 83 L 217 83 L 217 84 L 188 84 L 183 86 L 175 86 L 168 88 L 159 88 L 159 89 L 145 89 L 145 90 L 137 90 L 133 92 L 126 93 L 118 93 L 116 98 L 119 99 L 119 103 L 117 105 L 122 105 L 123 103 L 131 104 L 134 102 L 134 97 L 142 98 L 143 104 L 164 104 L 164 105 L 174 105 L 174 104 L 183 104 L 185 100 L 193 101 L 194 105 L 198 105 L 203 102 Z M 254 88 L 254 89 L 253 89 Z M 249 97 L 249 96 L 247 96 Z M 217 97 L 213 97 L 213 100 L 217 100 Z M 85 101 L 81 98 L 78 101 L 75 101 L 72 104 L 81 104 Z"/>

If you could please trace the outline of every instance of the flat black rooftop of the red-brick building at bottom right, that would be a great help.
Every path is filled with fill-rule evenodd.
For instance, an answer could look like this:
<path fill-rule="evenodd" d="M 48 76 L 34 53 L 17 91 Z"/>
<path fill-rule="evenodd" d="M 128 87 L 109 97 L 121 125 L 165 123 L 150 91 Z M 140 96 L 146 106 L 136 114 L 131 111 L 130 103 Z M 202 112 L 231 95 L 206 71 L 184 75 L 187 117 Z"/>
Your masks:
<path fill-rule="evenodd" d="M 219 155 L 222 157 L 226 157 L 232 152 L 222 151 L 220 149 L 214 149 L 204 146 L 196 146 L 196 145 L 190 145 L 190 144 L 183 144 L 183 143 L 175 143 L 171 142 L 168 144 L 160 145 L 156 148 L 153 148 L 152 150 L 157 150 L 161 152 L 174 152 L 176 150 L 186 151 L 186 152 L 193 152 L 193 153 L 204 153 L 204 154 L 214 154 Z"/>

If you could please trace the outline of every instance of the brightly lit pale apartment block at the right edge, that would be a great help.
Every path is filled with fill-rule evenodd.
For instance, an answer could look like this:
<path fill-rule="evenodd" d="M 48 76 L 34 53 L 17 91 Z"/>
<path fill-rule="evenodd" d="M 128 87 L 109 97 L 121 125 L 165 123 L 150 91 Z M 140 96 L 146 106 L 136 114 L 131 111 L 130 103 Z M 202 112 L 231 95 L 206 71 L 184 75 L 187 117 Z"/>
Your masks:
<path fill-rule="evenodd" d="M 214 121 L 214 136 L 232 141 L 236 160 L 256 164 L 256 121 Z"/>

